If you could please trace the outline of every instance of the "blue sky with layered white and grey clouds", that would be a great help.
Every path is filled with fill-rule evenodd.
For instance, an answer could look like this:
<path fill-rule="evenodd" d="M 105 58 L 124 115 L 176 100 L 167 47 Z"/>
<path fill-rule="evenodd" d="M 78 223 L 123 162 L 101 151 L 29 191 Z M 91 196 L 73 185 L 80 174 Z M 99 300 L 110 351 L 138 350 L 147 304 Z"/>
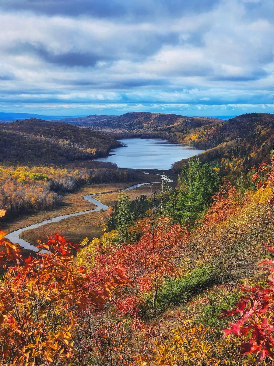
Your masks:
<path fill-rule="evenodd" d="M 273 113 L 273 0 L 1 0 L 0 111 Z"/>

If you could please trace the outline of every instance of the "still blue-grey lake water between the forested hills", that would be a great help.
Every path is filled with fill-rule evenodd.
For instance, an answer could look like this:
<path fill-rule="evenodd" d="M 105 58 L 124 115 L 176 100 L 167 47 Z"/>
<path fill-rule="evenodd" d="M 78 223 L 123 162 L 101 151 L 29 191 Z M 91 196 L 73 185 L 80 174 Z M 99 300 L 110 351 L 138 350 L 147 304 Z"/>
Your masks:
<path fill-rule="evenodd" d="M 175 161 L 203 152 L 194 146 L 166 140 L 131 138 L 119 141 L 128 146 L 117 147 L 110 152 L 115 155 L 96 160 L 115 163 L 119 168 L 167 170 Z"/>

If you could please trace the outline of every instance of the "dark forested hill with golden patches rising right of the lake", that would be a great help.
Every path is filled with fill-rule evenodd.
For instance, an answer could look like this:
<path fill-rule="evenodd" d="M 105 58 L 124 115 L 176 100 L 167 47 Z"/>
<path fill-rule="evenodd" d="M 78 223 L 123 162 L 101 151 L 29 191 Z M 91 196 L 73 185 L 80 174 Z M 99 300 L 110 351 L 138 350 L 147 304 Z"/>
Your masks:
<path fill-rule="evenodd" d="M 226 171 L 225 174 L 232 172 L 236 175 L 262 161 L 269 161 L 274 146 L 274 115 L 248 113 L 215 126 L 184 131 L 177 136 L 183 143 L 205 149 L 199 156 L 202 161 L 215 162 Z M 181 171 L 184 162 L 175 163 L 174 171 Z"/>

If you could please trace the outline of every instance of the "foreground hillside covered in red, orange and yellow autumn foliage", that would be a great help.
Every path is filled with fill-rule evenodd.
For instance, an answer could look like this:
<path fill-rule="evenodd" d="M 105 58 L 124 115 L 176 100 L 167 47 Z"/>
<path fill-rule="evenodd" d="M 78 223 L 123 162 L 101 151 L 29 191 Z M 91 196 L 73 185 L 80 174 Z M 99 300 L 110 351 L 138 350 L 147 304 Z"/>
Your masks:
<path fill-rule="evenodd" d="M 0 232 L 1 363 L 273 365 L 274 156 L 252 180 L 255 189 L 225 184 L 184 225 L 164 216 L 163 184 L 143 197 L 149 209 L 137 239 L 125 193 L 115 229 L 102 213 L 104 234 L 80 246 L 55 234 L 24 259 Z"/>

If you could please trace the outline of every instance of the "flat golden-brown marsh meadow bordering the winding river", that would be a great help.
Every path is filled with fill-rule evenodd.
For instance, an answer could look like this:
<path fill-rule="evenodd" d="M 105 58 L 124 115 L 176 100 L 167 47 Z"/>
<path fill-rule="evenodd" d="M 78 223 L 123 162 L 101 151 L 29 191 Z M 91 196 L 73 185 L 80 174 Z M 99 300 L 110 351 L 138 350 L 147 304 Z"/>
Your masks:
<path fill-rule="evenodd" d="M 140 178 L 141 177 L 142 176 L 140 176 Z M 115 185 L 87 185 L 78 189 L 74 193 L 65 194 L 62 206 L 60 206 L 58 209 L 50 212 L 38 212 L 36 214 L 27 215 L 26 217 L 22 217 L 12 223 L 4 224 L 3 228 L 5 229 L 7 234 L 9 234 L 10 232 L 14 232 L 21 228 L 34 225 L 44 220 L 54 220 L 54 217 L 71 215 L 74 213 L 80 213 L 83 211 L 96 209 L 95 203 L 92 203 L 87 199 L 83 199 L 83 197 L 86 195 L 92 195 L 93 198 L 99 200 L 99 202 L 102 202 L 103 205 L 109 207 L 114 206 L 115 201 L 117 201 L 118 194 L 122 190 L 126 190 L 130 199 L 133 200 L 141 195 L 149 196 L 155 190 L 159 189 L 159 179 L 159 176 L 155 176 L 155 174 L 153 173 L 148 173 L 144 176 L 142 180 L 139 179 L 139 182 L 142 183 L 139 183 L 138 180 L 131 183 L 130 187 L 134 186 L 135 184 L 144 184 L 132 190 L 127 189 L 129 187 L 129 183 L 115 183 Z M 143 183 L 144 181 L 150 183 Z M 96 225 L 96 222 L 99 221 L 99 216 L 100 213 L 97 211 L 81 214 L 79 216 L 69 217 L 67 219 L 62 219 L 61 221 L 39 226 L 38 228 L 28 229 L 26 231 L 23 231 L 23 233 L 20 234 L 19 237 L 23 240 L 26 240 L 28 243 L 35 245 L 37 244 L 36 241 L 38 238 L 41 238 L 42 241 L 45 241 L 47 239 L 47 236 L 53 235 L 55 232 L 59 231 L 62 233 L 62 235 L 66 236 L 68 240 L 79 243 L 83 239 L 83 233 L 85 233 L 85 235 L 88 236 L 88 238 L 90 239 L 97 238 L 102 235 L 102 230 L 100 229 L 100 226 Z M 13 238 L 9 237 L 9 235 L 7 235 L 6 237 L 7 239 L 14 242 L 14 240 L 12 240 Z M 16 242 L 20 244 L 20 240 Z M 31 249 L 26 249 L 24 246 L 22 246 L 22 248 L 23 253 L 31 253 Z"/>

